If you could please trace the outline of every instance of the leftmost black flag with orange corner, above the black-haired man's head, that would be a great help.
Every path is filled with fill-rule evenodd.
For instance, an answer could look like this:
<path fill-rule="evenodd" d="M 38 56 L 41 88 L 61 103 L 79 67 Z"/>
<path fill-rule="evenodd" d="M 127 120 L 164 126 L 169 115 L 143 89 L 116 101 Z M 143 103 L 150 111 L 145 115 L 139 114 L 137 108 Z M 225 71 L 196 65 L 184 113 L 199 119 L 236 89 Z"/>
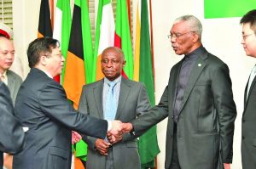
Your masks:
<path fill-rule="evenodd" d="M 38 24 L 38 37 L 52 37 L 49 0 L 41 0 Z"/>

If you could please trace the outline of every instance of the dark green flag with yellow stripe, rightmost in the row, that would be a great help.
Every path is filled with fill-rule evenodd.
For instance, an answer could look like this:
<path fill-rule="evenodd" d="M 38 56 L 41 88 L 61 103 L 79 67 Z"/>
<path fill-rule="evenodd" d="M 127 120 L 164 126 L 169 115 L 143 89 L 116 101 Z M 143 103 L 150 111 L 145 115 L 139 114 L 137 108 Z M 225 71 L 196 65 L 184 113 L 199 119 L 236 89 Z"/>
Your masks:
<path fill-rule="evenodd" d="M 135 52 L 134 78 L 143 82 L 147 88 L 151 105 L 154 105 L 154 74 L 153 58 L 150 45 L 150 33 L 148 24 L 148 2 L 143 0 L 141 4 L 141 23 L 139 22 L 137 9 L 137 33 Z M 141 26 L 141 27 L 140 27 Z M 138 151 L 142 168 L 154 167 L 154 160 L 160 149 L 157 143 L 156 126 L 145 132 L 138 141 Z"/>

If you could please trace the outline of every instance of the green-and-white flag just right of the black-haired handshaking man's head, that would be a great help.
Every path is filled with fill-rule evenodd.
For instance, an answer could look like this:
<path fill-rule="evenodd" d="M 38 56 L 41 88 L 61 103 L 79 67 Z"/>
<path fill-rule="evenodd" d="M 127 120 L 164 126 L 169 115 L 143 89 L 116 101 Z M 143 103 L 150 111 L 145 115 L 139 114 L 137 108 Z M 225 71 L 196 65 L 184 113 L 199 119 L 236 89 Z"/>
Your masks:
<path fill-rule="evenodd" d="M 54 20 L 54 31 L 53 37 L 61 42 L 61 54 L 67 59 L 67 49 L 69 43 L 69 36 L 71 30 L 71 9 L 70 0 L 58 0 L 55 8 L 55 20 Z M 63 76 L 65 75 L 65 66 L 61 74 L 61 83 L 63 84 Z"/>

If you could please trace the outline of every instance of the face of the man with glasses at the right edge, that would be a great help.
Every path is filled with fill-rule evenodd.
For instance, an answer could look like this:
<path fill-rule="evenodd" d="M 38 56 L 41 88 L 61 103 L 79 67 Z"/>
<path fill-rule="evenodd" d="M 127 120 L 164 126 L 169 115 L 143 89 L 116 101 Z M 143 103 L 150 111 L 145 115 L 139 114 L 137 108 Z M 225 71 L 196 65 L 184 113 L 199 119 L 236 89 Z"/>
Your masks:
<path fill-rule="evenodd" d="M 241 44 L 247 56 L 256 58 L 256 36 L 249 23 L 242 25 Z"/>

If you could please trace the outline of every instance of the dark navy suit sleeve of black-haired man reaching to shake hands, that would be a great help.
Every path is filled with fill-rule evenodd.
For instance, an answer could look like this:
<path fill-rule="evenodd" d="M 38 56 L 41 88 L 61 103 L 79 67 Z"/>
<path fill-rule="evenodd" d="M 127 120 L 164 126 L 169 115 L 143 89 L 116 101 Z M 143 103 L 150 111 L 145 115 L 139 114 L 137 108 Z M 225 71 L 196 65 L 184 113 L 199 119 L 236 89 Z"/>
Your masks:
<path fill-rule="evenodd" d="M 58 83 L 54 81 L 46 83 L 38 94 L 38 100 L 41 110 L 52 121 L 76 132 L 96 138 L 105 138 L 108 122 L 74 110 L 72 104 L 67 100 L 63 87 Z"/>

